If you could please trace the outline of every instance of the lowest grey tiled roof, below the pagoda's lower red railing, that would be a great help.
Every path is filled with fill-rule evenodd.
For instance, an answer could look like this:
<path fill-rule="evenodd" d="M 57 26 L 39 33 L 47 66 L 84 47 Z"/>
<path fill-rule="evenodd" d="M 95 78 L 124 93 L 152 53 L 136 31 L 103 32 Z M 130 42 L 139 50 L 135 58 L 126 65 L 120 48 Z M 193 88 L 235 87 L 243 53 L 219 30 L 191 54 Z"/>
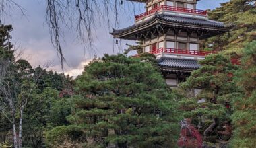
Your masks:
<path fill-rule="evenodd" d="M 177 69 L 199 69 L 200 67 L 200 65 L 197 63 L 197 60 L 174 58 L 163 58 L 158 61 L 158 66 Z"/>

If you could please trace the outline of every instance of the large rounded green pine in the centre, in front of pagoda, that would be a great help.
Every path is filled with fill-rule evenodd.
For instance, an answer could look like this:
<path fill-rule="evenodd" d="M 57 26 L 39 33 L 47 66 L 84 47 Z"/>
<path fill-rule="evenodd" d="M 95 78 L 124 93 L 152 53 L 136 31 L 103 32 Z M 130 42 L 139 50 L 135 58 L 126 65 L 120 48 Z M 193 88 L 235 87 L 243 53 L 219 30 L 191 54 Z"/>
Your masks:
<path fill-rule="evenodd" d="M 151 63 L 106 54 L 85 67 L 75 88 L 77 111 L 69 121 L 83 126 L 94 143 L 175 147 L 174 96 Z"/>

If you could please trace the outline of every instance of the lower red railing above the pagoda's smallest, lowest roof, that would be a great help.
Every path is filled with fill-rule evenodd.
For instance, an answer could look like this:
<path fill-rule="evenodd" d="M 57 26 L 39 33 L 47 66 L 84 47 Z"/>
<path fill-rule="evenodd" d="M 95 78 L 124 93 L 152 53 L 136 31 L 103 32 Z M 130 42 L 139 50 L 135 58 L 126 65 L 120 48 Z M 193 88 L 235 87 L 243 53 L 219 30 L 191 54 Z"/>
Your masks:
<path fill-rule="evenodd" d="M 159 48 L 157 50 L 152 50 L 151 54 L 159 53 L 170 53 L 170 54 L 189 54 L 197 56 L 206 56 L 208 54 L 214 54 L 214 51 L 197 51 L 197 50 L 185 50 L 185 49 L 174 49 L 174 48 Z"/>

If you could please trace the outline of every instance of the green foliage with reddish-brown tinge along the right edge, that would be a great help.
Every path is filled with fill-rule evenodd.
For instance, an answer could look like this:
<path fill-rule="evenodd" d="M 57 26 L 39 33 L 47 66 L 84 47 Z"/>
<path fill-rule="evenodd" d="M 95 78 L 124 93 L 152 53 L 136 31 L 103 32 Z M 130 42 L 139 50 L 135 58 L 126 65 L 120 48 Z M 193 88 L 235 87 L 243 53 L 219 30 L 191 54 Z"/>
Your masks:
<path fill-rule="evenodd" d="M 233 101 L 234 138 L 232 147 L 255 147 L 256 143 L 256 41 L 243 52 L 236 82 L 243 93 Z"/>

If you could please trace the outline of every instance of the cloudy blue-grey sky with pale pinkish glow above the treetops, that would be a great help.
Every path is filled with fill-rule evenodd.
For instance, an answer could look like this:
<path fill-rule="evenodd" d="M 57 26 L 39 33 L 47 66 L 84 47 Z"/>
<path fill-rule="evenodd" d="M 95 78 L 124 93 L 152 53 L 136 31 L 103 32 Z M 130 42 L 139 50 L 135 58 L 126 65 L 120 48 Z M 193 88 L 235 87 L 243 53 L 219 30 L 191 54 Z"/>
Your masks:
<path fill-rule="evenodd" d="M 13 32 L 11 36 L 18 52 L 23 52 L 22 59 L 30 62 L 32 67 L 51 63 L 49 70 L 61 72 L 61 63 L 57 52 L 51 44 L 49 29 L 46 24 L 46 0 L 14 0 L 26 9 L 26 15 L 21 15 L 20 11 L 13 11 L 11 17 L 1 18 L 3 24 L 12 24 Z M 111 0 L 110 0 L 111 1 Z M 201 0 L 197 4 L 197 9 L 215 9 L 229 0 Z M 136 3 L 135 12 L 131 11 L 131 3 L 124 1 L 122 7 L 123 12 L 119 13 L 119 24 L 112 23 L 110 28 L 125 28 L 134 24 L 133 15 L 143 13 L 143 5 Z M 128 13 L 127 13 L 128 12 Z M 135 14 L 134 14 L 135 13 Z M 114 21 L 114 15 L 110 16 L 110 21 Z M 109 34 L 108 26 L 96 26 L 94 35 L 94 50 L 85 50 L 84 46 L 75 40 L 75 35 L 69 30 L 63 30 L 63 53 L 67 63 L 65 63 L 65 74 L 76 77 L 84 70 L 84 65 L 90 60 L 102 57 L 104 53 L 117 54 L 122 53 L 126 48 L 125 43 L 135 44 L 135 42 L 121 40 L 119 44 L 115 44 L 113 36 Z"/>

